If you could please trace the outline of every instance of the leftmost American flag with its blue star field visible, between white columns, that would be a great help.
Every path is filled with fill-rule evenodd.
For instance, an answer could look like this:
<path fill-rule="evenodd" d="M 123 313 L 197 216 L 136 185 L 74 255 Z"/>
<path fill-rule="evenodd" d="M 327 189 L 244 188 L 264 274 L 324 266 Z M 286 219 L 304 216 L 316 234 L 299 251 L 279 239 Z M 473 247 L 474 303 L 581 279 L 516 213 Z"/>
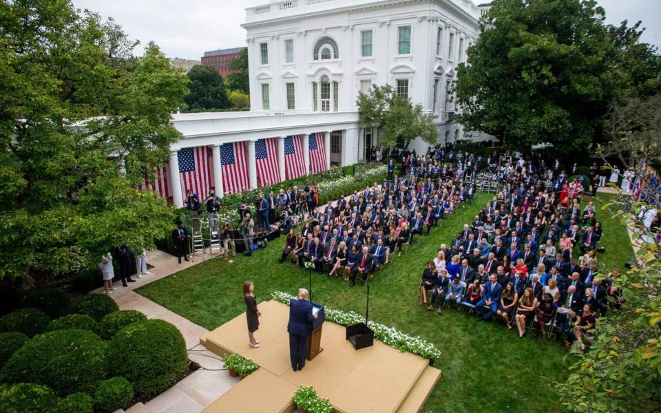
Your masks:
<path fill-rule="evenodd" d="M 211 189 L 211 162 L 207 147 L 179 149 L 179 179 L 182 182 L 182 196 L 190 189 L 204 198 Z"/>

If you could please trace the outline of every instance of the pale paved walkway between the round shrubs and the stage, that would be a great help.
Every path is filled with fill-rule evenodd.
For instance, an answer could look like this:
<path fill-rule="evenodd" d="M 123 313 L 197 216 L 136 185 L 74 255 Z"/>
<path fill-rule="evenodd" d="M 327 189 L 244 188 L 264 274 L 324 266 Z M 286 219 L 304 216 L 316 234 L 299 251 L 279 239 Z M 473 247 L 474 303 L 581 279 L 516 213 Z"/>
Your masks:
<path fill-rule="evenodd" d="M 207 254 L 207 258 L 216 255 L 210 256 Z M 186 347 L 195 350 L 189 352 L 189 359 L 200 363 L 200 366 L 204 368 L 210 369 L 200 369 L 193 372 L 151 401 L 133 405 L 127 410 L 127 413 L 201 412 L 239 381 L 238 378 L 230 377 L 227 370 L 211 371 L 222 368 L 222 361 L 218 359 L 216 354 L 200 345 L 200 337 L 206 335 L 209 330 L 133 291 L 135 288 L 167 277 L 200 262 L 202 262 L 202 258 L 196 257 L 192 262 L 184 261 L 182 264 L 177 264 L 177 258 L 172 255 L 158 250 L 149 251 L 147 253 L 147 264 L 153 267 L 149 269 L 151 275 L 143 275 L 143 278 L 133 277 L 136 282 L 129 283 L 127 288 L 122 287 L 121 282 L 114 284 L 116 290 L 113 291 L 110 297 L 116 301 L 120 309 L 138 310 L 150 319 L 162 319 L 174 324 L 184 336 Z M 101 293 L 102 291 L 100 288 L 95 292 Z M 117 412 L 123 412 L 123 410 Z"/>

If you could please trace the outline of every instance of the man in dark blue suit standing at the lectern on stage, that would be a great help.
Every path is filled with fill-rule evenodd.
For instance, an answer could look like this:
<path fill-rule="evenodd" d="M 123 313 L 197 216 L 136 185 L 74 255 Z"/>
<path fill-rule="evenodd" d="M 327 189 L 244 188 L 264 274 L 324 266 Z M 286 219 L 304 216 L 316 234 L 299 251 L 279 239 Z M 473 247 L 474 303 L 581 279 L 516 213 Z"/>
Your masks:
<path fill-rule="evenodd" d="M 289 301 L 289 356 L 291 357 L 291 368 L 294 371 L 303 370 L 305 367 L 305 352 L 308 343 L 308 331 L 310 322 L 317 318 L 312 313 L 313 305 L 308 301 L 308 290 L 300 288 L 298 297 Z"/>

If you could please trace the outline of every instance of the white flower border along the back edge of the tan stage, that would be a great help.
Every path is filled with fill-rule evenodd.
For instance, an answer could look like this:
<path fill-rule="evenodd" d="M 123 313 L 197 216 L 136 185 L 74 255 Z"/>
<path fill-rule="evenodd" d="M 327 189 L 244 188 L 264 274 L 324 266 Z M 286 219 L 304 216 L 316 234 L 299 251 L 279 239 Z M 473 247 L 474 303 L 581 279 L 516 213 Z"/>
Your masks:
<path fill-rule="evenodd" d="M 295 298 L 293 295 L 283 293 L 282 291 L 275 291 L 275 293 L 271 294 L 271 297 L 275 301 L 287 305 L 289 305 L 290 299 Z M 342 326 L 364 322 L 364 317 L 361 315 L 330 308 L 326 308 L 326 319 Z M 412 352 L 426 359 L 437 359 L 441 357 L 441 350 L 434 346 L 433 343 L 423 340 L 420 337 L 408 335 L 395 328 L 384 326 L 374 321 L 368 321 L 368 327 L 374 331 L 375 339 L 388 344 L 390 347 L 397 348 L 401 352 Z"/>

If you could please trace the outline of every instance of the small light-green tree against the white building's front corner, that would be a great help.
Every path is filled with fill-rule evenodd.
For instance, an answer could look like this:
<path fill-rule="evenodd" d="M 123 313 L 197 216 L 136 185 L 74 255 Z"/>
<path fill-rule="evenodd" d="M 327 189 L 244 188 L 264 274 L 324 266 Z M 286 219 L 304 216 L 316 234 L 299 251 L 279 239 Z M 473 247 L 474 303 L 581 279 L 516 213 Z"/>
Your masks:
<path fill-rule="evenodd" d="M 391 85 L 373 85 L 368 94 L 360 92 L 356 100 L 361 127 L 379 127 L 379 145 L 395 147 L 402 138 L 406 145 L 417 136 L 435 144 L 438 129 L 431 114 L 423 112 L 422 105 L 413 105 L 408 98 L 399 96 Z"/>

